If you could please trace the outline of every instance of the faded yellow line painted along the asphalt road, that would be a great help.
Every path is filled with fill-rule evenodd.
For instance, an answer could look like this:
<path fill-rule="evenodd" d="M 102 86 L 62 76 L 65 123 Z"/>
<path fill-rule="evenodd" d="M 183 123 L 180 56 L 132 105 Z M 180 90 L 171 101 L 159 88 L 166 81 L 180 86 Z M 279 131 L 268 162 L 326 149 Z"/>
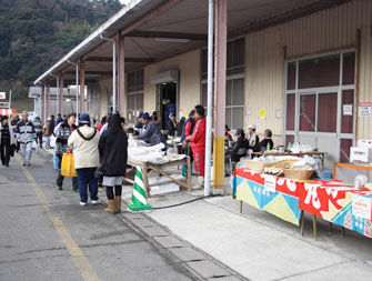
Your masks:
<path fill-rule="evenodd" d="M 16 155 L 17 161 L 19 164 L 21 164 L 21 160 L 19 155 Z M 50 220 L 53 223 L 53 227 L 63 241 L 66 249 L 69 251 L 73 262 L 77 264 L 77 267 L 80 270 L 80 273 L 83 278 L 83 280 L 89 281 L 98 281 L 101 280 L 97 272 L 94 271 L 91 263 L 88 261 L 87 257 L 83 254 L 83 252 L 80 250 L 77 242 L 73 240 L 70 231 L 63 223 L 63 221 L 58 217 L 58 214 L 53 211 L 52 205 L 50 204 L 48 198 L 42 192 L 40 185 L 37 183 L 30 171 L 26 167 L 21 167 L 23 170 L 23 173 L 26 178 L 30 181 L 31 187 L 33 189 L 33 192 L 37 194 L 39 201 L 41 202 L 42 207 L 46 209 Z"/>

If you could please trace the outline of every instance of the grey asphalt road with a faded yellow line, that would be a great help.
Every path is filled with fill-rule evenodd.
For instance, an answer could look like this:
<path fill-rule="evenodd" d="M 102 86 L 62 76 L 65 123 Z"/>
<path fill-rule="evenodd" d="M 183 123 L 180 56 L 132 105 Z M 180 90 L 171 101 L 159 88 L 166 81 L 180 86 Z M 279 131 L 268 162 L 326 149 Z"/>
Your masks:
<path fill-rule="evenodd" d="M 0 280 L 192 280 L 189 271 L 103 205 L 79 205 L 50 155 L 0 167 Z"/>

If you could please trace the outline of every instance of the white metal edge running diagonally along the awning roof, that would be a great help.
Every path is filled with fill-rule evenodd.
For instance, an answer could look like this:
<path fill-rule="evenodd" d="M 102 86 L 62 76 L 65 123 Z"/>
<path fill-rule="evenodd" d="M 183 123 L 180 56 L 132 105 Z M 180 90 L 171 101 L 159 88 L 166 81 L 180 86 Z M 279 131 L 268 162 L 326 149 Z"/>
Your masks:
<path fill-rule="evenodd" d="M 107 31 L 113 23 L 115 23 L 118 20 L 120 20 L 122 17 L 124 17 L 128 12 L 135 11 L 135 10 L 140 9 L 147 2 L 150 2 L 150 0 L 132 0 L 130 3 L 128 3 L 125 7 L 123 7 L 119 12 L 117 12 L 109 20 L 107 20 L 104 23 L 102 23 L 95 31 L 93 31 L 89 37 L 87 37 L 80 44 L 78 44 L 76 48 L 73 48 L 71 51 L 69 51 L 62 59 L 60 59 L 50 69 L 48 69 L 44 73 L 42 73 L 33 83 L 34 84 L 41 83 L 41 81 L 46 77 L 48 77 L 50 73 L 52 73 L 52 71 L 54 71 L 57 68 L 59 68 L 68 59 L 71 59 L 73 54 L 83 50 L 84 47 L 89 46 L 95 39 L 99 39 L 100 34 L 103 34 L 104 31 Z"/>

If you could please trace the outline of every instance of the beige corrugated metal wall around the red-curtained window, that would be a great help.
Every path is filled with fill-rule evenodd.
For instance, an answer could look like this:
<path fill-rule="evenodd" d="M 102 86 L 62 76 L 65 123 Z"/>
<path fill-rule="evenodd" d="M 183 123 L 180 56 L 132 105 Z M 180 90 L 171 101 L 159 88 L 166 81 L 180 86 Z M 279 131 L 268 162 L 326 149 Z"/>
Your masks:
<path fill-rule="evenodd" d="M 251 114 L 245 126 L 255 123 L 260 133 L 270 128 L 275 136 L 282 134 L 284 118 L 278 119 L 275 111 L 284 106 L 284 49 L 286 59 L 356 49 L 358 29 L 361 29 L 358 101 L 372 101 L 371 24 L 372 1 L 355 0 L 248 34 L 245 94 Z M 267 109 L 265 119 L 259 119 L 260 108 Z M 358 138 L 372 139 L 372 118 L 359 118 L 358 122 Z"/>

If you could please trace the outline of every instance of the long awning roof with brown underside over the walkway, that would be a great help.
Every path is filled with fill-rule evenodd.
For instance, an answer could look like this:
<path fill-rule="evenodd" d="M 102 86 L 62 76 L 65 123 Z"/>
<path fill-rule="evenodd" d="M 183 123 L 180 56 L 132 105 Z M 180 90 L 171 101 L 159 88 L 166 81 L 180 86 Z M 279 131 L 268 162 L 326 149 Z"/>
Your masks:
<path fill-rule="evenodd" d="M 348 1 L 350 0 L 229 1 L 229 37 L 239 37 Z M 128 30 L 130 27 L 132 28 Z M 114 37 L 119 31 L 130 31 L 124 41 L 125 71 L 139 69 L 207 46 L 208 1 L 134 0 L 39 77 L 36 83 L 54 80 L 49 73 L 60 72 L 64 72 L 67 83 L 73 83 L 73 67 L 67 60 L 77 62 L 80 58 L 86 61 L 87 83 L 102 77 L 112 77 L 112 43 L 102 41 L 100 34 Z M 171 40 L 174 42 L 170 42 Z"/>

